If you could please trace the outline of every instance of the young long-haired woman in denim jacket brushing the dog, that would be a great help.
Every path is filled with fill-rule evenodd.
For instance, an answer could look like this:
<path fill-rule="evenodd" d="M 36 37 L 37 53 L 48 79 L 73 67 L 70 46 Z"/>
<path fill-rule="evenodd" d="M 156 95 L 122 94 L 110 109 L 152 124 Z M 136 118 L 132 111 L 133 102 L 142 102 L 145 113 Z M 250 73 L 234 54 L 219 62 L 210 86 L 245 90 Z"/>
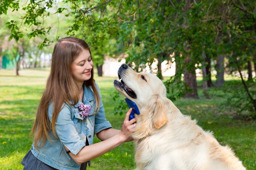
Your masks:
<path fill-rule="evenodd" d="M 34 142 L 22 160 L 24 169 L 86 169 L 91 159 L 132 141 L 136 119 L 129 121 L 130 113 L 121 130 L 111 127 L 93 79 L 88 44 L 75 37 L 60 39 L 31 130 Z M 102 142 L 93 144 L 94 134 Z"/>

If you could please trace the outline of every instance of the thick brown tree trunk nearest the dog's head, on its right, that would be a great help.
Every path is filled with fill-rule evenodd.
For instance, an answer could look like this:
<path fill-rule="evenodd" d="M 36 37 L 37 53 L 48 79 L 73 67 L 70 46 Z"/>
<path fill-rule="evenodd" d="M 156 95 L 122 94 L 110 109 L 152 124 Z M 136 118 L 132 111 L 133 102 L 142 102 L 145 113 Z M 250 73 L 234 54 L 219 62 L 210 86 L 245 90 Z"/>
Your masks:
<path fill-rule="evenodd" d="M 185 98 L 195 98 L 198 99 L 198 95 L 197 95 L 197 83 L 196 83 L 196 69 L 195 69 L 195 65 L 191 66 L 191 63 L 193 63 L 190 59 L 189 59 L 190 55 L 187 55 L 187 58 L 185 59 L 185 70 L 184 70 L 184 83 L 186 83 L 188 85 L 189 90 L 192 90 L 192 92 L 190 91 L 186 91 L 185 90 Z M 189 65 L 191 66 L 191 68 L 188 68 Z"/>

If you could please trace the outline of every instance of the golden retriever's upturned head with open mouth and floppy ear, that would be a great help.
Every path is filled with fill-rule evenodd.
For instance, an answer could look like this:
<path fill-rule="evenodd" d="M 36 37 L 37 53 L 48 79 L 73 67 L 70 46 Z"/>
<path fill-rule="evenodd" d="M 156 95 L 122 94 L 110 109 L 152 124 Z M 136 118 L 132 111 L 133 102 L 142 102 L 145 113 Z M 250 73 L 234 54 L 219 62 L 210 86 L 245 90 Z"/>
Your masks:
<path fill-rule="evenodd" d="M 137 125 L 138 121 L 151 121 L 157 129 L 162 127 L 167 122 L 166 106 L 163 101 L 166 99 L 166 88 L 162 81 L 151 73 L 137 73 L 126 64 L 119 68 L 118 78 L 114 80 L 114 87 L 135 102 L 140 110 L 140 115 L 135 115 Z"/>

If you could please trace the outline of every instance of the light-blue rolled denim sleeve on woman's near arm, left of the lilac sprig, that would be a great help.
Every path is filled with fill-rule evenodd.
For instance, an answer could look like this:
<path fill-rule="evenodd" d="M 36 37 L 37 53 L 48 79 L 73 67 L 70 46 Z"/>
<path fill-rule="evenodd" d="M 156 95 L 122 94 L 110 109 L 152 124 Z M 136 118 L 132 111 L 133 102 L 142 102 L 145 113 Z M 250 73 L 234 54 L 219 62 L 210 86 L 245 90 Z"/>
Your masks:
<path fill-rule="evenodd" d="M 52 107 L 51 103 L 48 108 L 49 119 L 52 120 Z M 71 108 L 65 104 L 60 111 L 55 123 L 55 131 L 63 143 L 73 154 L 77 154 L 84 146 L 84 141 L 80 138 L 74 122 L 71 119 Z"/>

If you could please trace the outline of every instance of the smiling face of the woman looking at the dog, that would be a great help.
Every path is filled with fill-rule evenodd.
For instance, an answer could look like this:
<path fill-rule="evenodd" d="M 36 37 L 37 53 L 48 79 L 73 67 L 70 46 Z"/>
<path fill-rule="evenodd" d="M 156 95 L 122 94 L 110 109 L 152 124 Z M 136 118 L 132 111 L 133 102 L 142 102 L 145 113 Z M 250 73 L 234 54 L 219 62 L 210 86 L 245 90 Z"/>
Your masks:
<path fill-rule="evenodd" d="M 71 64 L 72 75 L 76 83 L 83 84 L 85 80 L 91 78 L 91 69 L 93 68 L 93 60 L 89 50 L 82 50 L 78 58 Z"/>

